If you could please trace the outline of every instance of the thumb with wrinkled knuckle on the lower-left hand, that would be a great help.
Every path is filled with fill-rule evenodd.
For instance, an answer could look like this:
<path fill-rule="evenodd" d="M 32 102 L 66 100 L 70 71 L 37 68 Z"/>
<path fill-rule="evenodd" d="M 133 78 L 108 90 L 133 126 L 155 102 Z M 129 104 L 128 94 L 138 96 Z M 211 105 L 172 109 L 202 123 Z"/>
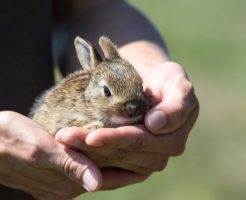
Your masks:
<path fill-rule="evenodd" d="M 100 170 L 83 154 L 64 147 L 52 153 L 50 161 L 54 168 L 82 185 L 87 191 L 97 191 L 101 188 Z"/>

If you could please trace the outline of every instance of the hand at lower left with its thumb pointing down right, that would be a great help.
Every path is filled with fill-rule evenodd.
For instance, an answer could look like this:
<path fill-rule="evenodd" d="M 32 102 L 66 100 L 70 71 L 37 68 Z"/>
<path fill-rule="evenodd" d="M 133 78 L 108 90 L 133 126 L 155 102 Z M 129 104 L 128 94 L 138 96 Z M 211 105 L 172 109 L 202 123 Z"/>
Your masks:
<path fill-rule="evenodd" d="M 88 158 L 10 111 L 0 112 L 0 177 L 0 184 L 39 200 L 72 199 L 102 185 L 101 172 Z"/>

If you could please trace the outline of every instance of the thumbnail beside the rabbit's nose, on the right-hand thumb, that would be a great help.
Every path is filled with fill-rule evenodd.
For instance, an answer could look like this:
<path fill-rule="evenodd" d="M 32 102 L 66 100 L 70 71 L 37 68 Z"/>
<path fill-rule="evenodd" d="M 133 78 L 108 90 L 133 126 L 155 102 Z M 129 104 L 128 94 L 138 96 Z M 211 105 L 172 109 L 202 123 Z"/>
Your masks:
<path fill-rule="evenodd" d="M 160 130 L 166 125 L 166 116 L 160 110 L 152 111 L 147 118 L 148 127 L 154 131 Z"/>

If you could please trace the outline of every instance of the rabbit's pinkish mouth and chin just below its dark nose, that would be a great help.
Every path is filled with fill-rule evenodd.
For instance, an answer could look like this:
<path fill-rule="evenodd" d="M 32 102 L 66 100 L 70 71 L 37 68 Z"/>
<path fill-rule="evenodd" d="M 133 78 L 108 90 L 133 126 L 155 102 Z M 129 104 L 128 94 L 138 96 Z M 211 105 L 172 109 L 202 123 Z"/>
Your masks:
<path fill-rule="evenodd" d="M 106 122 L 107 127 L 119 127 L 133 124 L 143 123 L 143 115 L 138 115 L 136 117 L 121 117 L 112 116 L 111 119 Z"/>

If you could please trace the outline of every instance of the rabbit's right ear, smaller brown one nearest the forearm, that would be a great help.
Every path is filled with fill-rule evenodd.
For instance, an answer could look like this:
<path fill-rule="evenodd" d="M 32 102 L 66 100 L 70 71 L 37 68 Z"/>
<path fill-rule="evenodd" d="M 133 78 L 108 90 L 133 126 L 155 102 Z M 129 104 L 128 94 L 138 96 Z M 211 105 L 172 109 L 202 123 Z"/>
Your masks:
<path fill-rule="evenodd" d="M 108 37 L 106 36 L 100 37 L 99 45 L 102 48 L 106 59 L 112 60 L 115 58 L 120 58 L 117 47 Z"/>

